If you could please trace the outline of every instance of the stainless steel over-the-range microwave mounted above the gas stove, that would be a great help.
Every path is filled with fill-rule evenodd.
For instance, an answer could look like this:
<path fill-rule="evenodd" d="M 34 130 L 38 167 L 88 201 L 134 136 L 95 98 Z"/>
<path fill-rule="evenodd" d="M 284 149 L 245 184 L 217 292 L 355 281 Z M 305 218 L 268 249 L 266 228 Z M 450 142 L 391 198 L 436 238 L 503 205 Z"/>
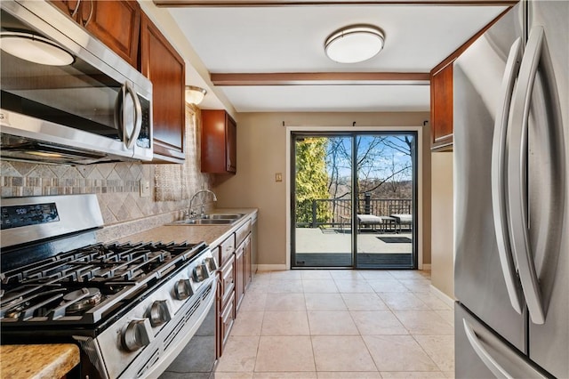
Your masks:
<path fill-rule="evenodd" d="M 0 3 L 2 157 L 152 160 L 148 78 L 52 4 Z"/>

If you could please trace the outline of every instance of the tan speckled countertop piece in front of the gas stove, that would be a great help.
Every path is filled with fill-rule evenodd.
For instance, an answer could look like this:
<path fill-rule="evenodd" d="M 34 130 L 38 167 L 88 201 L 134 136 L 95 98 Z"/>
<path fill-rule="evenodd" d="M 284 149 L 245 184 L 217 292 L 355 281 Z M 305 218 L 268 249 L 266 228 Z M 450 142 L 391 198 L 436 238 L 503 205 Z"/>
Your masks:
<path fill-rule="evenodd" d="M 72 343 L 0 346 L 3 379 L 60 378 L 79 363 L 79 348 Z"/>

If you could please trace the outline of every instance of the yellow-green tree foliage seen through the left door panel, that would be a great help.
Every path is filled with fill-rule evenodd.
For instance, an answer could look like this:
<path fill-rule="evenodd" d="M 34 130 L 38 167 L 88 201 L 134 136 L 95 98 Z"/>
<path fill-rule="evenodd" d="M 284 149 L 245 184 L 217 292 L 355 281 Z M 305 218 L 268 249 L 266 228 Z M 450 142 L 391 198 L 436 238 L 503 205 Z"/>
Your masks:
<path fill-rule="evenodd" d="M 312 222 L 312 200 L 330 198 L 326 172 L 326 138 L 296 142 L 296 222 Z M 327 202 L 317 203 L 317 222 L 330 220 Z"/>

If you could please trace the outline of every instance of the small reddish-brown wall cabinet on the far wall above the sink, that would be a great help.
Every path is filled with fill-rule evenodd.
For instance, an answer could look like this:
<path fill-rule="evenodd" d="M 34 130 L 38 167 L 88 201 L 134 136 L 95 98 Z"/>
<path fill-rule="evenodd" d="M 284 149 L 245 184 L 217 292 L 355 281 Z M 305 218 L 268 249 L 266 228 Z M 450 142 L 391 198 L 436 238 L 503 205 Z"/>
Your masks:
<path fill-rule="evenodd" d="M 236 173 L 237 125 L 223 109 L 202 110 L 202 173 Z"/>

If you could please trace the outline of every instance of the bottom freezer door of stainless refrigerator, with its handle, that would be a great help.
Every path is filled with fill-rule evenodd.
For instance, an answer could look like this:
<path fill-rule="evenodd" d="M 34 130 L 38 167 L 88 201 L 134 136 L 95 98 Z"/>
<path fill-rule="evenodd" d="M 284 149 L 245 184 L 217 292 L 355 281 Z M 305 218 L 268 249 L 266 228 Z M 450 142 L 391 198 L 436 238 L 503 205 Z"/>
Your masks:
<path fill-rule="evenodd" d="M 458 303 L 454 327 L 456 378 L 547 377 Z"/>

